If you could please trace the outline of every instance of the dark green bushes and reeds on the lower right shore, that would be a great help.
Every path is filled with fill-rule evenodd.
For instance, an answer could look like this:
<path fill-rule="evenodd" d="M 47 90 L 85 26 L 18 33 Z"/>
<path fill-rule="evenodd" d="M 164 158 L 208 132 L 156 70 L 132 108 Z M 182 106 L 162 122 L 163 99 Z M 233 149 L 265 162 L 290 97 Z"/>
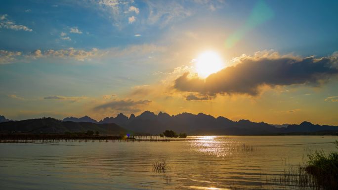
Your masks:
<path fill-rule="evenodd" d="M 335 142 L 338 150 L 338 141 Z M 338 152 L 315 151 L 298 166 L 287 165 L 281 174 L 266 180 L 279 190 L 338 190 Z"/>

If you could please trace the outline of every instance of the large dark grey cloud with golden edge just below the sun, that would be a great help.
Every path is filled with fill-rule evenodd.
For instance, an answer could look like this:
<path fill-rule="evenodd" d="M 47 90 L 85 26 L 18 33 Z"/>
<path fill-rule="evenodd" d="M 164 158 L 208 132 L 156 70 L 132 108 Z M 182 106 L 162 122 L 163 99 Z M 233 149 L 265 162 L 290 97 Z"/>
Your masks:
<path fill-rule="evenodd" d="M 174 81 L 179 91 L 203 94 L 259 94 L 263 85 L 286 86 L 293 84 L 321 85 L 337 76 L 337 57 L 283 57 L 272 54 L 261 57 L 242 56 L 239 64 L 227 67 L 201 79 L 185 73 Z"/>

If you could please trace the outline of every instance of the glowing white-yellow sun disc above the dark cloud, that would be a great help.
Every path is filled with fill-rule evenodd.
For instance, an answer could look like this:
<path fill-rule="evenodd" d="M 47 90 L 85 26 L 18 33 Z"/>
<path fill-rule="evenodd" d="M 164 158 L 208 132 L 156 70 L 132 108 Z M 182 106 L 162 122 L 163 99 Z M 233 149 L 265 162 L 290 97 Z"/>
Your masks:
<path fill-rule="evenodd" d="M 220 71 L 223 68 L 223 62 L 216 52 L 206 51 L 197 57 L 195 60 L 195 67 L 198 76 L 206 78 L 209 75 Z"/>

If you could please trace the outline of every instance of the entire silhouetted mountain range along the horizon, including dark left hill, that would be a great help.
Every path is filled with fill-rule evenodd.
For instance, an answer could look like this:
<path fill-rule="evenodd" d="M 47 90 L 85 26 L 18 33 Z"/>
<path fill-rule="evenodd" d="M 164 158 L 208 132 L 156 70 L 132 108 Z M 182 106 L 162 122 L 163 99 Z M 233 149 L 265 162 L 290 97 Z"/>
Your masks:
<path fill-rule="evenodd" d="M 32 120 L 37 123 L 32 123 Z M 160 134 L 165 130 L 173 130 L 177 133 L 184 132 L 188 135 L 267 135 L 313 133 L 318 131 L 329 131 L 331 134 L 332 131 L 338 132 L 338 126 L 315 125 L 307 121 L 300 124 L 271 125 L 265 122 L 253 122 L 245 119 L 232 121 L 222 116 L 215 118 L 212 115 L 203 113 L 169 115 L 163 112 L 154 114 L 149 111 L 145 111 L 138 116 L 131 114 L 129 117 L 120 113 L 116 117 L 106 117 L 100 121 L 92 119 L 89 116 L 80 118 L 66 117 L 62 121 L 54 119 L 49 120 L 49 123 L 44 124 L 43 122 L 47 122 L 47 120 L 44 120 L 43 122 L 34 119 L 24 121 L 25 122 L 13 121 L 0 123 L 0 131 L 3 132 L 15 129 L 14 131 L 59 133 L 65 131 L 84 132 L 86 130 L 98 130 L 101 134 L 105 134 L 107 133 L 107 130 L 104 130 L 104 128 L 110 127 L 110 124 L 114 124 L 114 126 L 116 125 L 115 127 L 120 127 L 121 129 L 119 128 L 119 130 L 125 133 L 132 131 L 133 133 L 151 135 Z M 38 129 L 37 126 L 42 128 Z"/>

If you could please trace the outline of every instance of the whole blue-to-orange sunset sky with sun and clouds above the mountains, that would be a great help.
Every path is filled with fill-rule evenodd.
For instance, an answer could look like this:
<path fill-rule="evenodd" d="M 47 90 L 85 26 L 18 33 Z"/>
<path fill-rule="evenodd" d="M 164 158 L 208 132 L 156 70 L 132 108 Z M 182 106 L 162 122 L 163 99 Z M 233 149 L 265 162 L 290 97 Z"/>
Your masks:
<path fill-rule="evenodd" d="M 0 114 L 338 125 L 338 1 L 2 0 Z"/>

